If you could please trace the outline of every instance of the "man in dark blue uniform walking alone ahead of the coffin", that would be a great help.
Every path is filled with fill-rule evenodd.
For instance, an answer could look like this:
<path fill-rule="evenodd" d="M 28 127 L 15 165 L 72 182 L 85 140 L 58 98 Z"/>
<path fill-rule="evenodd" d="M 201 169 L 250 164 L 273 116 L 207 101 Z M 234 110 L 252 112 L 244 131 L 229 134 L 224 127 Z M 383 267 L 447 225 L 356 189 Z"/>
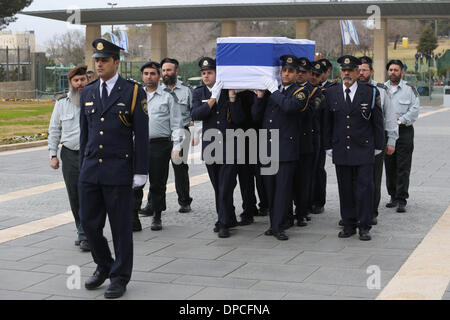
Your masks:
<path fill-rule="evenodd" d="M 133 266 L 133 187 L 148 172 L 148 111 L 145 92 L 118 75 L 122 48 L 104 39 L 93 42 L 99 79 L 81 93 L 80 217 L 97 268 L 86 282 L 95 289 L 109 278 L 106 298 L 126 290 Z M 114 243 L 112 258 L 103 236 L 108 215 Z"/>

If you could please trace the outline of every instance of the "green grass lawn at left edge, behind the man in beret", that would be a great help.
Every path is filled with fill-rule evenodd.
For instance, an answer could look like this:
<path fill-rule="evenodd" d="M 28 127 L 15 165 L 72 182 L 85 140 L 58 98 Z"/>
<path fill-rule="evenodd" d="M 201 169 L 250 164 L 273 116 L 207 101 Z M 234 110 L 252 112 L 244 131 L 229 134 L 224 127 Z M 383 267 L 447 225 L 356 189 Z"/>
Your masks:
<path fill-rule="evenodd" d="M 0 102 L 0 140 L 47 133 L 54 103 Z"/>

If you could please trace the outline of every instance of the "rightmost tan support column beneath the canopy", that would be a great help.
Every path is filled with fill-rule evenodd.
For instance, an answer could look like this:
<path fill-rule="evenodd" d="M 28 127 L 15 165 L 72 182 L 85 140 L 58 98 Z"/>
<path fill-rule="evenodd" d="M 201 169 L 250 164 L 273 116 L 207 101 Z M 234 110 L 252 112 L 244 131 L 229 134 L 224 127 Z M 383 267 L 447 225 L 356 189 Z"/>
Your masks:
<path fill-rule="evenodd" d="M 380 28 L 373 30 L 373 69 L 374 80 L 377 82 L 386 81 L 387 49 L 387 19 L 381 19 Z"/>

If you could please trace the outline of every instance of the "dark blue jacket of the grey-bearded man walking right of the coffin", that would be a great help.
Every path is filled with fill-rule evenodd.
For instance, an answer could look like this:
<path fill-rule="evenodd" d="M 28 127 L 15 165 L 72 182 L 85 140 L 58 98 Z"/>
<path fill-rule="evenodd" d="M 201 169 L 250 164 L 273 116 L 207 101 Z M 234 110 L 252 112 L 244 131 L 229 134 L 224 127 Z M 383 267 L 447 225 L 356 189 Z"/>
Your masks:
<path fill-rule="evenodd" d="M 333 149 L 335 165 L 373 164 L 375 149 L 384 148 L 383 113 L 380 93 L 374 86 L 358 83 L 351 107 L 345 102 L 342 84 L 326 89 L 324 112 L 324 149 Z"/>

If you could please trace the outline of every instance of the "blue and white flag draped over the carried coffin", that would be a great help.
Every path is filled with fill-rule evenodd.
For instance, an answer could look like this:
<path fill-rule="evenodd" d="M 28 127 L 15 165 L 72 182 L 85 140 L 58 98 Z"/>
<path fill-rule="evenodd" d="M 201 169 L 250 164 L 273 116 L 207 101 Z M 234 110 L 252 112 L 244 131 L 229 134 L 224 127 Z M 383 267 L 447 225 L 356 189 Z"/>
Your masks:
<path fill-rule="evenodd" d="M 217 80 L 225 89 L 265 89 L 263 78 L 280 83 L 285 54 L 314 60 L 315 41 L 286 37 L 217 38 Z"/>

